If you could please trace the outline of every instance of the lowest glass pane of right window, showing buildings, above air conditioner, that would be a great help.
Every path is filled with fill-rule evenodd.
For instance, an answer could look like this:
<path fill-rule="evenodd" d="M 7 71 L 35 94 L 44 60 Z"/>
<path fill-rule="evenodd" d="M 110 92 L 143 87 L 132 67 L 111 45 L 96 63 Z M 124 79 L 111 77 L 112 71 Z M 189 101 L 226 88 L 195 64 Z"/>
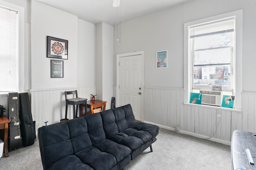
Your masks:
<path fill-rule="evenodd" d="M 194 85 L 230 86 L 230 64 L 215 66 L 194 66 Z"/>

